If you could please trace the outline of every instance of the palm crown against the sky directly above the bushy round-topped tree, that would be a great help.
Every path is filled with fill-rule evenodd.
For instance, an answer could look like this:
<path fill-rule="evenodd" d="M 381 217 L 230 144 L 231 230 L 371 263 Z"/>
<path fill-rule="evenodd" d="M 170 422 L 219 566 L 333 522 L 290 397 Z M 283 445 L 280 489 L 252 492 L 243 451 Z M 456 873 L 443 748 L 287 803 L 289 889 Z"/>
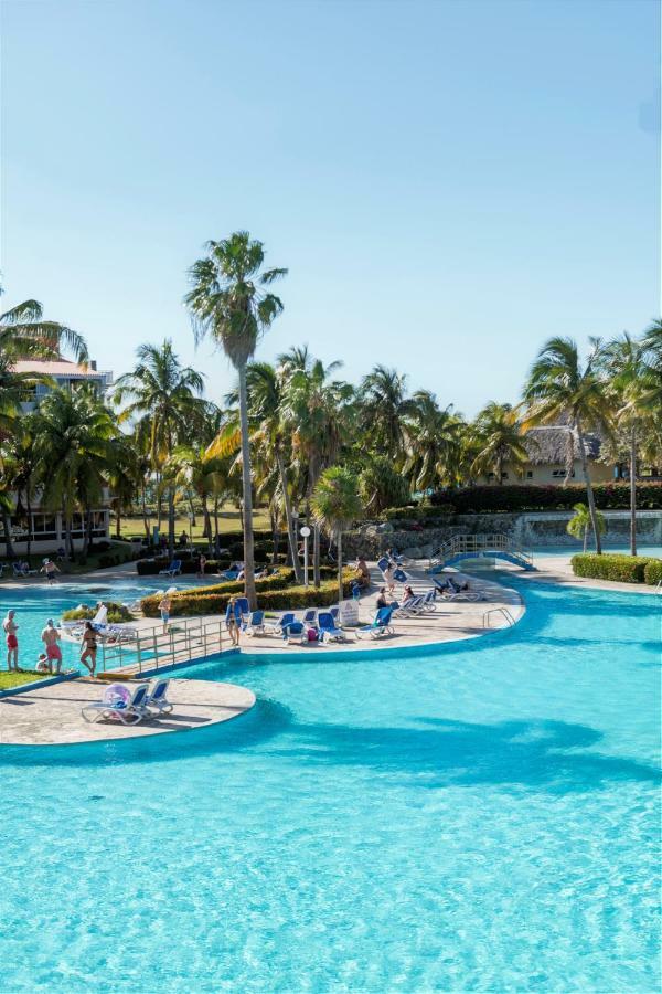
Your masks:
<path fill-rule="evenodd" d="M 395 369 L 375 366 L 359 389 L 363 430 L 373 447 L 392 459 L 405 451 L 404 419 L 414 412 L 406 396 L 406 380 Z"/>

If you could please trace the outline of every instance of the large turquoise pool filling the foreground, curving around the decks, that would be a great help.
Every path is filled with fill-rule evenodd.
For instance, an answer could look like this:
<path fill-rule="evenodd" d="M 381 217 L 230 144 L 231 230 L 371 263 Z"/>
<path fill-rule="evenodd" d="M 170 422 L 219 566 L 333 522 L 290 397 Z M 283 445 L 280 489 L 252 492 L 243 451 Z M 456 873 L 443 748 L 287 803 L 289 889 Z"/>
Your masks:
<path fill-rule="evenodd" d="M 258 695 L 217 729 L 0 749 L 2 988 L 659 990 L 662 600 L 522 586 L 439 652 L 191 668 Z"/>

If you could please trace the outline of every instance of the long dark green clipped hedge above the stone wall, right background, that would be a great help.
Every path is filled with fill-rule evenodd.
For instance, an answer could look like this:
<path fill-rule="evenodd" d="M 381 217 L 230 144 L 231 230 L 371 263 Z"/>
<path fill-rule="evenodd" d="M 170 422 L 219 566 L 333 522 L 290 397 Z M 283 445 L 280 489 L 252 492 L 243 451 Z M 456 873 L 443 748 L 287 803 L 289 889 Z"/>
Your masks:
<path fill-rule="evenodd" d="M 630 485 L 628 483 L 595 484 L 596 506 L 600 510 L 629 510 Z M 460 490 L 437 490 L 430 497 L 434 506 L 452 504 L 456 514 L 481 514 L 483 511 L 538 511 L 572 510 L 579 500 L 586 499 L 583 484 L 562 486 L 492 486 L 465 487 Z M 637 507 L 640 510 L 662 508 L 662 483 L 637 484 Z"/>

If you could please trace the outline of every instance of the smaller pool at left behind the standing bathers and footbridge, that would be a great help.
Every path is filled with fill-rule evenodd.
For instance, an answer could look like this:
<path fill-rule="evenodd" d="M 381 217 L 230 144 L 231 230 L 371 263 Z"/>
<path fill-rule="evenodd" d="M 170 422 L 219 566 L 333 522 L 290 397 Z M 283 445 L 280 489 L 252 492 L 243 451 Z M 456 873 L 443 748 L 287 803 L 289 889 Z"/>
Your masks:
<path fill-rule="evenodd" d="M 19 625 L 19 665 L 24 669 L 34 667 L 38 656 L 43 652 L 41 632 L 49 617 L 55 622 L 64 611 L 77 607 L 78 604 L 94 605 L 97 601 L 115 601 L 130 603 L 148 596 L 158 590 L 178 586 L 182 590 L 194 586 L 209 586 L 218 583 L 218 578 L 197 580 L 195 577 L 130 577 L 127 580 L 87 580 L 72 583 L 30 583 L 25 586 L 2 588 L 0 585 L 0 615 L 4 617 L 8 609 L 17 612 Z M 62 642 L 62 658 L 65 668 L 83 669 L 78 663 L 81 648 L 71 642 Z M 4 643 L 2 643 L 2 647 Z M 4 656 L 2 657 L 4 659 Z M 126 660 L 125 660 L 126 662 Z M 4 665 L 4 663 L 0 664 Z M 116 660 L 119 665 L 119 660 Z"/>

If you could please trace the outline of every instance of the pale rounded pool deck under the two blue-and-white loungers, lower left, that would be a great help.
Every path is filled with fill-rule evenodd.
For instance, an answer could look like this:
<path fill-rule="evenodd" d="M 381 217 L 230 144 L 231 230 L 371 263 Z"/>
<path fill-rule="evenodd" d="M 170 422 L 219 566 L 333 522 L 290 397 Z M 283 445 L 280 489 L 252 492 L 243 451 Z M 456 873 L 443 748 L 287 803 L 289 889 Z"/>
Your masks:
<path fill-rule="evenodd" d="M 255 705 L 255 695 L 246 687 L 171 679 L 168 699 L 174 707 L 170 715 L 135 726 L 113 720 L 90 725 L 81 709 L 100 700 L 106 688 L 102 681 L 81 678 L 1 698 L 0 744 L 64 745 L 190 731 L 231 721 Z"/>

